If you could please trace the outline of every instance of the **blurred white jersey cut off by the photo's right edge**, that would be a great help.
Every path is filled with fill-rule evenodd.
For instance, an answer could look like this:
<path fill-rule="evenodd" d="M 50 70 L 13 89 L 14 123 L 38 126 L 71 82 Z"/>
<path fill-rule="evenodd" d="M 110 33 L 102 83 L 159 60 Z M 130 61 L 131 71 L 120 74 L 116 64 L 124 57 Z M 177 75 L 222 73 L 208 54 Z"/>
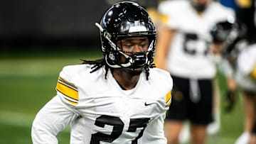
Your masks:
<path fill-rule="evenodd" d="M 250 74 L 256 72 L 256 44 L 242 49 L 238 55 L 235 79 L 242 89 L 256 92 L 256 79 Z"/>

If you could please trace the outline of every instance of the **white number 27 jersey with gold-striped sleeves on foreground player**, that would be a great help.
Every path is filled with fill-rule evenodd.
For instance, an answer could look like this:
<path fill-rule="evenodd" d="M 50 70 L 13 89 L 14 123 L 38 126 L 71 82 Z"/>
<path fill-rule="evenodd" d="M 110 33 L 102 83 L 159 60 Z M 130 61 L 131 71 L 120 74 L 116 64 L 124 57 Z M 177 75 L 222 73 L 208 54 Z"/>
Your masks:
<path fill-rule="evenodd" d="M 58 143 L 56 135 L 71 123 L 70 143 L 165 144 L 164 118 L 171 104 L 168 72 L 142 72 L 136 87 L 123 90 L 111 72 L 92 65 L 71 65 L 60 72 L 57 96 L 37 114 L 33 143 Z"/>

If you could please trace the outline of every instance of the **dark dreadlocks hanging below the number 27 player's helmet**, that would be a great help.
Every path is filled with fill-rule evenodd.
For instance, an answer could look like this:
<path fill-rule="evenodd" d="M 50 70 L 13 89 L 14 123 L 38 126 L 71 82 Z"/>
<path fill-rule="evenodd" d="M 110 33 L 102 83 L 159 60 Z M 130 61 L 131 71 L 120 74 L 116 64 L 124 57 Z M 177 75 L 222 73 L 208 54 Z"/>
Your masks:
<path fill-rule="evenodd" d="M 82 64 L 93 65 L 91 68 L 92 71 L 90 73 L 96 72 L 101 67 L 105 67 L 105 70 L 106 70 L 105 79 L 107 79 L 107 72 L 110 69 L 110 66 L 107 65 L 105 58 L 101 58 L 98 60 L 82 60 Z M 149 68 L 153 68 L 153 67 L 156 67 L 156 66 L 153 64 L 153 65 L 149 65 L 149 66 L 146 65 L 146 67 L 144 67 L 143 71 L 146 73 L 146 80 L 149 80 Z"/>

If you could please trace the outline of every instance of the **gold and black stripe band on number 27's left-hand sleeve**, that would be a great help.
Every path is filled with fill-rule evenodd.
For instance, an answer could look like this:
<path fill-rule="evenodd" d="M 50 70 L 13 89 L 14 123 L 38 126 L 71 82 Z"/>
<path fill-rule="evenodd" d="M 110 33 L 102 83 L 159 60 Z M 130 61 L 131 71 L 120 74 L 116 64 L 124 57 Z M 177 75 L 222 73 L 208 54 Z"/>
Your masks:
<path fill-rule="evenodd" d="M 75 101 L 73 102 L 77 103 L 78 89 L 73 84 L 70 84 L 59 77 L 56 89 L 58 92 L 64 94 L 65 96 L 68 96 L 68 98 L 70 98 L 68 101 L 74 99 Z"/>

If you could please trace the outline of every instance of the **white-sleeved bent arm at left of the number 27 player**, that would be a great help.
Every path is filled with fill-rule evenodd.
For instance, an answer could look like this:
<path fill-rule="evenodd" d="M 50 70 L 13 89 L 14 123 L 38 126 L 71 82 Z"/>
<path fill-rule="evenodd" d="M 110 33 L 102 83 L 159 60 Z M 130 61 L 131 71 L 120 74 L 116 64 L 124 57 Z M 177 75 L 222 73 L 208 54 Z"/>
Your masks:
<path fill-rule="evenodd" d="M 43 106 L 33 121 L 33 143 L 58 143 L 56 135 L 77 116 L 72 109 L 63 104 L 59 96 L 55 96 Z"/>

